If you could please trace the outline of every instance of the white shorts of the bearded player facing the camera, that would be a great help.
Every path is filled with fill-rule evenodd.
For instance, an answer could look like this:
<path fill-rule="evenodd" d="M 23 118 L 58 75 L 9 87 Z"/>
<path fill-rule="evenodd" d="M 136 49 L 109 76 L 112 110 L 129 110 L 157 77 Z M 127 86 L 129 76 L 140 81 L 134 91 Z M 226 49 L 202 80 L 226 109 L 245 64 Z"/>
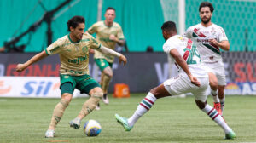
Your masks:
<path fill-rule="evenodd" d="M 212 72 L 218 79 L 218 85 L 226 85 L 224 63 L 219 60 L 215 63 L 203 63 L 207 72 Z"/>

